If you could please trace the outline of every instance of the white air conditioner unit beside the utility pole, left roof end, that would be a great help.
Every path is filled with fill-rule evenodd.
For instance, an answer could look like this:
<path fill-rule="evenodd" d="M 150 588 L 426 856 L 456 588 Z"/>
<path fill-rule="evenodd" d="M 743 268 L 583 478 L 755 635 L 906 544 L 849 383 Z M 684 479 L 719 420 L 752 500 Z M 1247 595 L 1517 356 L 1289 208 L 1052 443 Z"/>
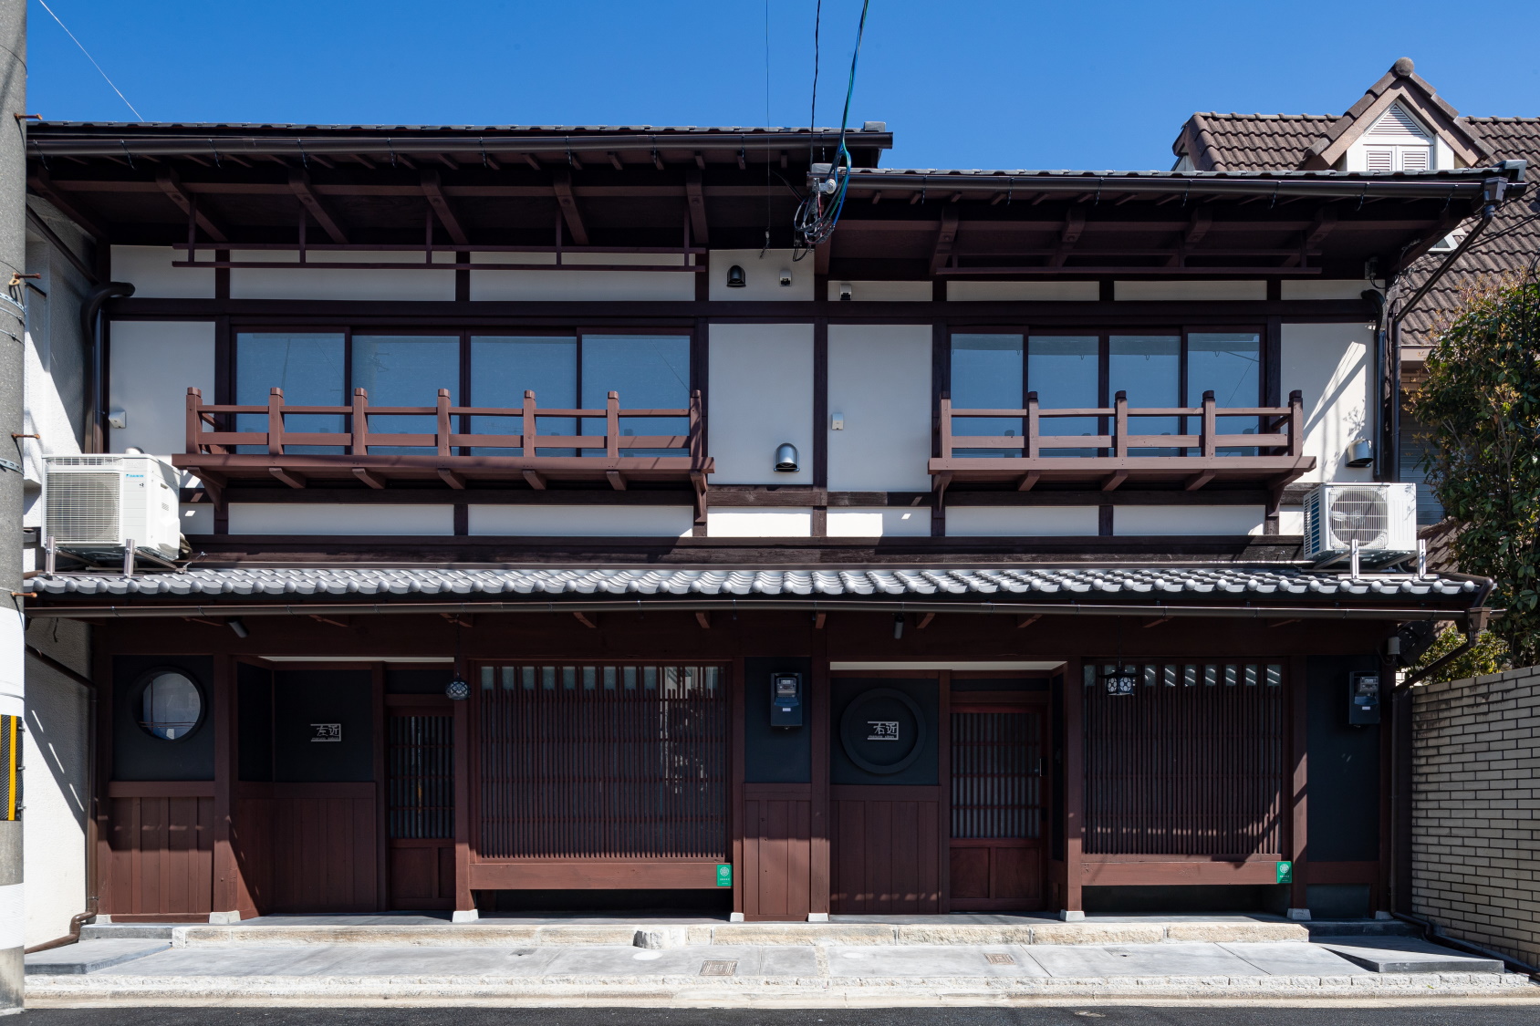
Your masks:
<path fill-rule="evenodd" d="M 43 538 L 91 559 L 120 559 L 128 542 L 176 559 L 182 478 L 154 456 L 45 456 Z"/>

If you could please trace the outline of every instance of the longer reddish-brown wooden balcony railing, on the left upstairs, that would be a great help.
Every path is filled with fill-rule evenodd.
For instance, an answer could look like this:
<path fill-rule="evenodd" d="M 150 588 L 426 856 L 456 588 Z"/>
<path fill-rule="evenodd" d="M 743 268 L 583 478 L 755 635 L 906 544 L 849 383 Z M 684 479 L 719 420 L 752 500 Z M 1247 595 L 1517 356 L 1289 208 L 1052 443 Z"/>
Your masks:
<path fill-rule="evenodd" d="M 239 417 L 263 416 L 265 430 L 242 430 Z M 346 430 L 293 430 L 291 416 L 336 417 Z M 373 417 L 433 417 L 431 431 L 376 430 Z M 467 430 L 476 417 L 510 422 L 508 434 Z M 541 434 L 537 425 L 545 417 L 604 421 L 602 434 Z M 685 419 L 684 434 L 624 434 L 622 421 Z M 425 425 L 427 427 L 427 425 Z M 305 453 L 296 448 L 336 447 L 331 453 Z M 246 451 L 239 451 L 246 450 Z M 259 450 L 259 451 L 251 451 Z M 420 450 L 420 451 L 382 451 Z M 519 454 L 497 454 L 488 450 L 519 450 Z M 573 456 L 542 456 L 548 450 L 574 450 Z M 645 451 L 653 450 L 653 451 Z M 675 450 L 658 454 L 656 450 Z M 268 404 L 229 405 L 205 404 L 197 388 L 186 397 L 186 453 L 172 456 L 172 464 L 186 467 L 213 490 L 220 491 L 228 481 L 279 479 L 293 488 L 305 488 L 311 481 L 359 479 L 371 488 L 385 488 L 390 481 L 440 481 L 451 488 L 464 488 L 468 481 L 524 479 L 534 488 L 548 481 L 607 481 L 625 490 L 628 481 L 684 481 L 695 487 L 696 505 L 705 491 L 705 474 L 713 471 L 705 454 L 701 421 L 701 393 L 690 394 L 684 410 L 622 410 L 619 394 L 611 391 L 602 408 L 542 408 L 534 393 L 524 393 L 521 408 L 457 407 L 450 391 L 439 390 L 431 407 L 371 407 L 363 388 L 353 391 L 346 407 L 291 407 L 283 402 L 283 390 L 274 388 Z"/>

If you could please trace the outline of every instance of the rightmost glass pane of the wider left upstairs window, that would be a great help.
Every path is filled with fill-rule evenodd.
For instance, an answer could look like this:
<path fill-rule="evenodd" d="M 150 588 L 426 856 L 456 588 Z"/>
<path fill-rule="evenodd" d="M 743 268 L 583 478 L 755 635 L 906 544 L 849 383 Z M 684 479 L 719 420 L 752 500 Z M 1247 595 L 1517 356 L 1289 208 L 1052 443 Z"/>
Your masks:
<path fill-rule="evenodd" d="M 685 410 L 690 405 L 690 337 L 679 334 L 585 334 L 582 408 L 602 410 L 608 393 L 622 410 Z M 584 434 L 604 434 L 604 421 L 584 417 Z M 621 438 L 688 434 L 688 417 L 621 417 Z M 684 448 L 621 448 L 622 456 L 682 456 Z M 590 454 L 602 456 L 602 450 Z"/>

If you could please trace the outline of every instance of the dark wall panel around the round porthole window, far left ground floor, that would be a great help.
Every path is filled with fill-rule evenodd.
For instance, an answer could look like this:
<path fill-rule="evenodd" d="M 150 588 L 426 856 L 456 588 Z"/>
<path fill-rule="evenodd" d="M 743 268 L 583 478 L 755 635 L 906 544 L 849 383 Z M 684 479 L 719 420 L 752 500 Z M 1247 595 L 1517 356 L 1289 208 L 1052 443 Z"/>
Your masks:
<path fill-rule="evenodd" d="M 156 738 L 139 726 L 142 686 L 160 667 L 185 673 L 203 699 L 202 723 L 174 741 Z M 214 780 L 214 659 L 112 658 L 112 780 Z"/>

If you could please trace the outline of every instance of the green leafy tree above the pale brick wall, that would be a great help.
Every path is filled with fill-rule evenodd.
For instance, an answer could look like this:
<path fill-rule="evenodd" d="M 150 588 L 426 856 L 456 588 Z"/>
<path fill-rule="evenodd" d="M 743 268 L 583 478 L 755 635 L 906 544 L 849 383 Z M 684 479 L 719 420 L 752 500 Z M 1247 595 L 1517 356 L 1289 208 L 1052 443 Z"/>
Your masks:
<path fill-rule="evenodd" d="M 1540 279 L 1466 294 L 1411 396 L 1428 427 L 1428 482 L 1461 530 L 1461 570 L 1497 582 L 1492 632 L 1515 666 L 1540 661 Z"/>

